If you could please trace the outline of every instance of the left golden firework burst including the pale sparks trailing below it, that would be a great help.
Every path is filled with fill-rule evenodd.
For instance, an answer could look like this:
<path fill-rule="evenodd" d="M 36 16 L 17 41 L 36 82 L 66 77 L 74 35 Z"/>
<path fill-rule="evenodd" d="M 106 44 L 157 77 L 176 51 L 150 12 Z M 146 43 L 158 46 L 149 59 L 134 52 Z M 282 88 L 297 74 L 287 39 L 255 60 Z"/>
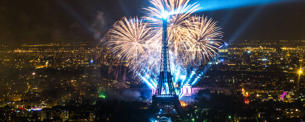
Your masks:
<path fill-rule="evenodd" d="M 132 73 L 139 78 L 140 74 L 152 73 L 152 69 L 156 66 L 155 56 L 156 46 L 152 44 L 152 34 L 155 32 L 149 27 L 149 23 L 139 20 L 138 17 L 127 19 L 123 17 L 117 21 L 111 30 L 107 33 L 106 38 L 110 47 L 110 51 L 115 55 L 115 59 L 126 61 L 127 66 L 132 69 Z M 113 60 L 111 64 L 117 64 L 117 60 Z M 149 65 L 145 65 L 145 64 Z"/>

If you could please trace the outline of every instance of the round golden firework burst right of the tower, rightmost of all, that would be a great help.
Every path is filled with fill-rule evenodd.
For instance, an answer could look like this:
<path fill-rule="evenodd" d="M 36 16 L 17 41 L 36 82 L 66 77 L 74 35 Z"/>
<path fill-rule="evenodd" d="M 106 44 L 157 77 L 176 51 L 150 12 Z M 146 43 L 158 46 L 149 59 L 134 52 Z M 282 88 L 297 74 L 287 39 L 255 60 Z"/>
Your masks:
<path fill-rule="evenodd" d="M 188 50 L 186 51 L 189 59 L 210 60 L 214 56 L 217 47 L 220 46 L 219 38 L 222 36 L 221 28 L 217 27 L 217 22 L 207 17 L 193 16 L 188 19 L 190 22 L 187 27 L 188 33 L 180 34 L 186 40 Z"/>

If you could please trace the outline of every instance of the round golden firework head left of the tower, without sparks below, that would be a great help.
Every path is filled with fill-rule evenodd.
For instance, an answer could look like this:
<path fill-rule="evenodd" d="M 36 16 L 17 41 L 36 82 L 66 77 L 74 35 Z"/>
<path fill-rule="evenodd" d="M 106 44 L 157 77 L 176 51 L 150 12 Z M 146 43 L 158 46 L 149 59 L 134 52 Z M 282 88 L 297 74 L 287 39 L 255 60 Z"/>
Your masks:
<path fill-rule="evenodd" d="M 122 60 L 136 61 L 138 57 L 146 57 L 150 51 L 149 41 L 152 33 L 148 23 L 143 23 L 138 17 L 117 21 L 107 36 L 110 39 L 111 51 Z"/>

